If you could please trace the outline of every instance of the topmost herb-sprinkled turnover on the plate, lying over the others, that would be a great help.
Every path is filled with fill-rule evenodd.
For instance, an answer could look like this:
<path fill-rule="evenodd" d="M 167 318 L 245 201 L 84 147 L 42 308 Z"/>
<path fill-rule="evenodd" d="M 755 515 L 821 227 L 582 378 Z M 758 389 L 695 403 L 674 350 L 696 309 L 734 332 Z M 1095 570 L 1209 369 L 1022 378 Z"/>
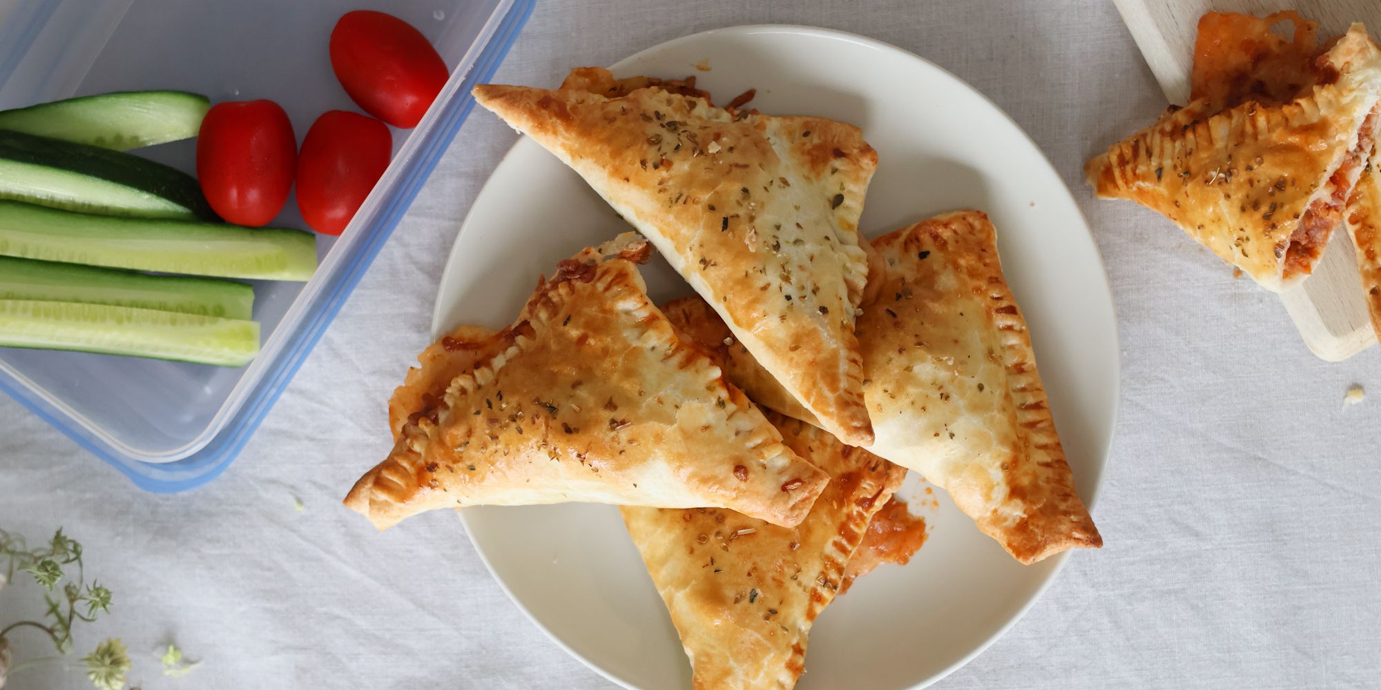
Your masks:
<path fill-rule="evenodd" d="M 558 90 L 475 98 L 652 240 L 826 429 L 870 443 L 853 324 L 877 153 L 856 127 L 715 108 L 681 84 L 587 68 Z"/>

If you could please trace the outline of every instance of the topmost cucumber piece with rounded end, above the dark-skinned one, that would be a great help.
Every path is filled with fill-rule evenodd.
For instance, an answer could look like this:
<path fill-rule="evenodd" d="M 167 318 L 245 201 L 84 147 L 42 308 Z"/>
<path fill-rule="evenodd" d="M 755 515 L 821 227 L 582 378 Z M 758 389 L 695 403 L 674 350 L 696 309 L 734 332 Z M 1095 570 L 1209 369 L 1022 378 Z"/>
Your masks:
<path fill-rule="evenodd" d="M 0 130 L 128 150 L 196 137 L 209 108 L 186 91 L 117 91 L 0 110 Z"/>

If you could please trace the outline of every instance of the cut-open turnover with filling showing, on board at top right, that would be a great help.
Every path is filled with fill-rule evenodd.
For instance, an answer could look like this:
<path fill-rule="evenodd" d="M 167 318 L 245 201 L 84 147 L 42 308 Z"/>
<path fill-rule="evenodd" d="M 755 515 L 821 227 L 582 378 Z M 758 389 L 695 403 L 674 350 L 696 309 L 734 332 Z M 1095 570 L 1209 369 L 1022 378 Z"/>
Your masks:
<path fill-rule="evenodd" d="M 1286 19 L 1294 40 L 1269 33 Z M 1269 290 L 1300 283 L 1342 219 L 1381 102 L 1366 29 L 1326 46 L 1295 12 L 1204 15 L 1195 99 L 1090 160 L 1088 182 L 1164 214 Z"/>

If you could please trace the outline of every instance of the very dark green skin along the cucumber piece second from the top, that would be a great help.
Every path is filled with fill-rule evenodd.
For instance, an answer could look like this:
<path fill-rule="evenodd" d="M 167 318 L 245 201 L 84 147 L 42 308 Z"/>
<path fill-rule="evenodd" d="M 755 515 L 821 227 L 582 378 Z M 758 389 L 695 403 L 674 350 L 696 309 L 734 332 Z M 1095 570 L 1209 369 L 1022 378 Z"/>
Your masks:
<path fill-rule="evenodd" d="M 137 189 L 186 208 L 189 219 L 220 219 L 211 210 L 211 204 L 202 196 L 202 186 L 196 178 L 131 153 L 0 130 L 0 164 L 4 164 L 3 159 L 64 170 L 73 175 L 95 177 Z M 0 189 L 0 197 L 3 196 L 4 190 Z M 40 199 L 21 200 L 47 206 Z M 98 201 L 93 200 L 93 204 L 98 204 Z M 80 211 L 80 208 L 64 208 Z M 108 210 L 106 213 L 119 213 L 119 210 Z M 138 215 L 138 213 L 130 211 L 127 215 Z"/>

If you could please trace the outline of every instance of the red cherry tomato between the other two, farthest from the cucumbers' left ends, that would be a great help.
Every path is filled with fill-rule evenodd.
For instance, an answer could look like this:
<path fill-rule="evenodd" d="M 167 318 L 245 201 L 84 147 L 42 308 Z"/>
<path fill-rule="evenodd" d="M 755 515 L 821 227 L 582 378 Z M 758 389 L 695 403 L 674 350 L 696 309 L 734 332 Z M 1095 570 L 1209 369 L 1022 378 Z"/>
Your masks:
<path fill-rule="evenodd" d="M 297 157 L 297 208 L 307 225 L 340 235 L 384 175 L 392 150 L 387 124 L 345 110 L 322 113 Z"/>

